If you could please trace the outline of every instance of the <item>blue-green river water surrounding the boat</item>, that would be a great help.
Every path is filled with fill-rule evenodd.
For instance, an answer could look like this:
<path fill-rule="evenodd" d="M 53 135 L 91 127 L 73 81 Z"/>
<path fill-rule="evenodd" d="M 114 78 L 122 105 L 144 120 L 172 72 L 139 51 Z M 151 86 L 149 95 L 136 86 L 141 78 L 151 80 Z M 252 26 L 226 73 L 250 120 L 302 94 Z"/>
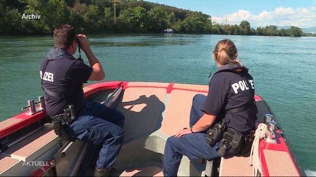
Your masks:
<path fill-rule="evenodd" d="M 232 35 L 88 35 L 106 72 L 104 81 L 207 85 L 211 52 L 232 39 L 250 69 L 256 94 L 272 107 L 300 164 L 316 175 L 316 38 Z M 1 36 L 0 120 L 42 95 L 39 65 L 52 36 Z M 78 57 L 78 53 L 75 54 Z M 86 63 L 87 59 L 83 56 Z M 91 84 L 93 82 L 89 82 Z"/>

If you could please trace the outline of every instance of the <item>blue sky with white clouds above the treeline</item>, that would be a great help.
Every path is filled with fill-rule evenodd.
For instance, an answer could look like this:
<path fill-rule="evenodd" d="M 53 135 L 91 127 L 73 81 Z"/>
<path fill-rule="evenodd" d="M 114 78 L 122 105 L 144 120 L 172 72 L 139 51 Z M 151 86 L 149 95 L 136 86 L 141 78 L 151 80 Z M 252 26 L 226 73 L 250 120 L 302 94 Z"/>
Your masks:
<path fill-rule="evenodd" d="M 316 27 L 316 0 L 147 0 L 201 11 L 223 24 L 247 20 L 251 26 Z"/>

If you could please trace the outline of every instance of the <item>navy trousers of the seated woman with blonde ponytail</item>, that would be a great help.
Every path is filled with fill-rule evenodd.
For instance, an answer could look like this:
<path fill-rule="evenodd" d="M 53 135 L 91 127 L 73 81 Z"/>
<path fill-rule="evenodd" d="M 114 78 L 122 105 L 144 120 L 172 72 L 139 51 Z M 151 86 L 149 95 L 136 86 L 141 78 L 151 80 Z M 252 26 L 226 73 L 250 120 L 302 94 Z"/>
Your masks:
<path fill-rule="evenodd" d="M 193 98 L 190 113 L 190 127 L 193 126 L 199 118 L 203 116 L 203 112 L 199 109 L 203 104 L 205 96 L 197 94 Z M 165 177 L 177 176 L 182 156 L 187 156 L 190 160 L 197 157 L 212 159 L 219 157 L 217 149 L 220 143 L 210 146 L 205 142 L 206 131 L 200 133 L 191 133 L 182 135 L 179 138 L 171 136 L 167 139 L 164 147 L 162 172 Z"/>

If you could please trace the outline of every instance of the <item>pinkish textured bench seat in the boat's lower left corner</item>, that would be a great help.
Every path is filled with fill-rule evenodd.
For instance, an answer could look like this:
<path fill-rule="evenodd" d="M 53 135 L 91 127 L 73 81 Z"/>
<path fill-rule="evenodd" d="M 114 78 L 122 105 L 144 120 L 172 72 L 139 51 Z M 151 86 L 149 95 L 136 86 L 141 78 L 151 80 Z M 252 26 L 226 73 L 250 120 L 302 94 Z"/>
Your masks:
<path fill-rule="evenodd" d="M 44 128 L 25 137 L 3 151 L 0 158 L 0 176 L 25 176 L 38 167 L 28 162 L 46 162 L 59 149 L 59 138 Z M 2 172 L 1 172 L 2 171 Z M 2 173 L 2 174 L 1 174 Z"/>

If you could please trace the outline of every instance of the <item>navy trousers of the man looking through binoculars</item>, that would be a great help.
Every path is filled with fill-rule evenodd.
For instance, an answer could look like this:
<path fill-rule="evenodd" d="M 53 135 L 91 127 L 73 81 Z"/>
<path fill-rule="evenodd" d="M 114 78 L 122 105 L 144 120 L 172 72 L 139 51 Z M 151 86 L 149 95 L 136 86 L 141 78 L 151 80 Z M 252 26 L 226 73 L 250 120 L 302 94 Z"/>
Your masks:
<path fill-rule="evenodd" d="M 124 115 L 98 102 L 85 102 L 67 133 L 90 145 L 101 145 L 96 166 L 98 169 L 110 168 L 118 157 L 124 132 Z"/>

